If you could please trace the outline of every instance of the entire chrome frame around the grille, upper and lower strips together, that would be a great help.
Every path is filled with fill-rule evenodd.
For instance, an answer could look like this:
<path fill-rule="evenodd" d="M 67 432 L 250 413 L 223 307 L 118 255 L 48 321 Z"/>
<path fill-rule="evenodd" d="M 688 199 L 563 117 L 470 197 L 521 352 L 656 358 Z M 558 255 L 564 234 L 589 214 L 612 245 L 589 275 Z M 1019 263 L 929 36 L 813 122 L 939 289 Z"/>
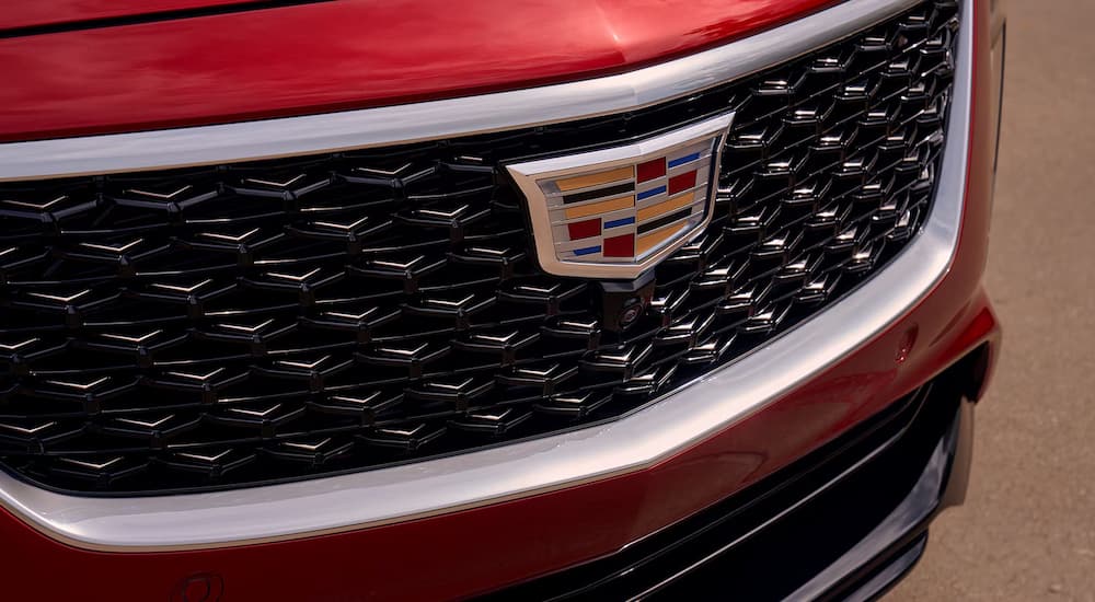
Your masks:
<path fill-rule="evenodd" d="M 260 147 L 270 143 L 277 147 L 274 154 L 330 150 L 342 144 L 360 146 L 360 139 L 355 136 L 361 135 L 359 126 L 366 123 L 379 124 L 376 131 L 365 134 L 366 140 L 391 142 L 396 129 L 403 136 L 413 136 L 413 130 L 420 128 L 412 126 L 408 130 L 405 124 L 414 124 L 426 116 L 433 119 L 429 127 L 438 128 L 441 135 L 464 131 L 450 123 L 456 116 L 461 116 L 460 126 L 486 127 L 503 127 L 500 124 L 516 118 L 517 114 L 506 108 L 517 102 L 512 100 L 500 100 L 498 118 L 492 118 L 492 107 L 496 106 L 492 104 L 493 99 L 521 99 L 520 102 L 526 103 L 520 107 L 521 115 L 542 115 L 548 119 L 564 118 L 561 115 L 573 117 L 583 105 L 604 112 L 607 107 L 619 109 L 649 104 L 715 83 L 713 78 L 722 81 L 773 60 L 784 60 L 885 19 L 911 3 L 907 0 L 850 0 L 707 53 L 604 80 L 549 86 L 542 89 L 548 91 L 543 96 L 538 91 L 522 91 L 441 101 L 450 107 L 445 112 L 443 124 L 438 120 L 441 115 L 434 113 L 438 103 L 376 109 L 381 116 L 376 119 L 366 117 L 366 112 L 346 114 L 356 115 L 348 123 L 357 126 L 347 125 L 347 129 L 356 134 L 344 136 L 335 131 L 335 126 L 321 128 L 330 134 L 325 140 L 331 142 L 322 149 L 309 146 L 319 144 L 320 138 L 309 136 L 303 126 L 267 130 L 256 142 L 245 138 L 245 132 L 254 131 L 250 128 L 256 125 L 241 124 L 223 126 L 226 130 L 218 126 L 175 130 L 174 134 L 7 144 L 0 150 L 0 165 L 3 165 L 0 170 L 11 178 L 131 170 L 135 165 L 160 166 L 164 159 L 171 159 L 165 158 L 163 147 L 155 148 L 160 144 L 174 146 L 173 150 L 178 151 L 172 154 L 177 161 L 174 164 L 209 162 L 214 160 L 208 155 L 207 142 L 210 140 L 216 160 L 221 161 L 239 159 L 252 151 L 257 153 Z M 886 269 L 840 303 L 687 389 L 630 416 L 587 429 L 391 468 L 266 487 L 181 496 L 87 498 L 47 491 L 0 473 L 0 503 L 44 534 L 82 548 L 148 552 L 223 547 L 452 512 L 643 470 L 680 452 L 840 361 L 904 314 L 946 274 L 957 246 L 965 201 L 972 4 L 972 1 L 964 2 L 949 129 L 935 202 L 924 229 Z M 724 69 L 726 65 L 735 67 Z M 670 74 L 672 81 L 683 83 L 672 85 L 665 79 Z M 632 76 L 634 79 L 629 79 Z M 627 81 L 630 92 L 622 93 L 620 83 L 601 83 L 609 80 Z M 564 90 L 573 90 L 578 100 L 567 100 L 565 106 L 558 104 Z M 459 107 L 468 112 L 461 113 Z M 538 113 L 541 107 L 542 113 Z M 464 115 L 469 117 L 463 119 Z M 344 123 L 337 116 L 331 118 L 330 124 Z M 301 119 L 284 121 L 314 123 L 309 120 L 312 118 Z M 393 124 L 404 126 L 396 128 Z M 184 131 L 193 134 L 180 134 Z M 438 135 L 438 131 L 433 134 Z M 153 142 L 142 141 L 142 136 Z M 175 136 L 180 138 L 173 138 Z M 270 142 L 273 137 L 279 140 Z M 119 140 L 129 142 L 120 143 Z M 70 144 L 71 152 L 65 152 L 66 144 Z M 199 152 L 199 144 L 206 152 Z M 23 152 L 13 150 L 16 147 L 28 154 L 13 159 Z M 45 150 L 48 148 L 60 154 L 50 157 Z M 89 154 L 92 148 L 108 149 L 112 157 Z M 142 157 L 146 152 L 148 157 Z"/>

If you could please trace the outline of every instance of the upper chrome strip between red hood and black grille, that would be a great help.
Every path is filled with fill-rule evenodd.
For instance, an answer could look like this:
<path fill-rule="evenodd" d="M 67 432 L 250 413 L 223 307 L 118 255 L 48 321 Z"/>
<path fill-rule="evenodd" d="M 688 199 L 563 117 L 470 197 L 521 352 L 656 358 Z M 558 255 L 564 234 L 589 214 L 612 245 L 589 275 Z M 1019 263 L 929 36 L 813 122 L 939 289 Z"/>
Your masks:
<path fill-rule="evenodd" d="M 336 152 L 633 111 L 783 62 L 917 1 L 848 0 L 718 48 L 578 82 L 303 117 L 3 143 L 0 182 Z"/>

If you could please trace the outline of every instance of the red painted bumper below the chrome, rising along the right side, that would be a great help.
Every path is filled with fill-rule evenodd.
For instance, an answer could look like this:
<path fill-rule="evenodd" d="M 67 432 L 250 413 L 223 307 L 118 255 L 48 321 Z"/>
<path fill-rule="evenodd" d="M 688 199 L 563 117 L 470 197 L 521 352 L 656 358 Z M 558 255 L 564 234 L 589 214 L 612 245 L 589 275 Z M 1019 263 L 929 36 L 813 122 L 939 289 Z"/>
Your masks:
<path fill-rule="evenodd" d="M 986 24 L 978 20 L 978 65 L 988 58 Z M 977 69 L 975 77 L 976 88 L 988 90 L 989 70 Z M 981 285 L 994 127 L 989 97 L 975 95 L 959 252 L 932 293 L 839 364 L 677 456 L 611 479 L 452 514 L 203 552 L 77 551 L 0 514 L 5 598 L 166 600 L 191 576 L 208 572 L 223 580 L 226 600 L 453 598 L 609 554 L 703 509 L 839 436 L 982 343 L 998 343 Z M 912 327 L 915 343 L 896 361 Z"/>

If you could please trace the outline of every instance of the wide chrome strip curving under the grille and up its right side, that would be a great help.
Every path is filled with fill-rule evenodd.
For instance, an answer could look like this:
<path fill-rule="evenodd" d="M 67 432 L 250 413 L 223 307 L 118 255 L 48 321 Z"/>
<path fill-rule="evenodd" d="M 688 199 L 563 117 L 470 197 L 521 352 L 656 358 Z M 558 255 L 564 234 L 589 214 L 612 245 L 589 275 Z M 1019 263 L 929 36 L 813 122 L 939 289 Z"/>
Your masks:
<path fill-rule="evenodd" d="M 849 14 L 849 9 L 881 19 L 888 11 L 879 11 L 879 5 L 896 10 L 907 3 L 851 0 L 781 27 L 784 34 L 769 39 L 794 39 L 827 23 L 834 28 L 826 31 L 840 35 L 846 30 L 839 25 L 855 14 Z M 924 229 L 892 264 L 846 299 L 687 390 L 604 425 L 378 471 L 249 489 L 138 498 L 60 495 L 0 474 L 0 503 L 44 534 L 82 548 L 149 552 L 224 547 L 452 512 L 642 470 L 679 453 L 854 351 L 911 309 L 946 274 L 957 247 L 965 201 L 972 4 L 964 3 L 940 187 Z M 861 20 L 856 23 L 865 24 Z M 811 39 L 816 43 L 818 36 Z M 757 51 L 749 39 L 726 48 Z"/>

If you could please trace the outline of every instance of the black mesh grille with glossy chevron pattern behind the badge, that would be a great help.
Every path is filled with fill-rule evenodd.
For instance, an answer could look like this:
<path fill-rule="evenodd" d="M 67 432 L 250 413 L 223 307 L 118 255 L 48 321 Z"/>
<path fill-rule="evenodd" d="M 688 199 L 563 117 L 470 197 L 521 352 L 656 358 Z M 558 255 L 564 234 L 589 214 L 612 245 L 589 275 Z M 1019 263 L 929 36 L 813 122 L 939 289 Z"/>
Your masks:
<path fill-rule="evenodd" d="M 611 419 L 851 290 L 930 208 L 956 2 L 633 113 L 0 185 L 0 461 L 99 495 L 416 461 Z M 505 163 L 736 111 L 714 219 L 624 333 L 542 273 Z"/>

